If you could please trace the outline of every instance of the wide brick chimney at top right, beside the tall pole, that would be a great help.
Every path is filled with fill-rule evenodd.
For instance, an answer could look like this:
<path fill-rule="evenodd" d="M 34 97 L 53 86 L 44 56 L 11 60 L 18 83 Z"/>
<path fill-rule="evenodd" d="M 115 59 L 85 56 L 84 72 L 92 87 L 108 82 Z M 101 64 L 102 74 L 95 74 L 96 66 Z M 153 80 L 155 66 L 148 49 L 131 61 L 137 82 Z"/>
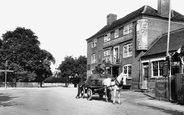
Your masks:
<path fill-rule="evenodd" d="M 169 17 L 170 0 L 158 0 L 158 13 L 162 17 Z"/>

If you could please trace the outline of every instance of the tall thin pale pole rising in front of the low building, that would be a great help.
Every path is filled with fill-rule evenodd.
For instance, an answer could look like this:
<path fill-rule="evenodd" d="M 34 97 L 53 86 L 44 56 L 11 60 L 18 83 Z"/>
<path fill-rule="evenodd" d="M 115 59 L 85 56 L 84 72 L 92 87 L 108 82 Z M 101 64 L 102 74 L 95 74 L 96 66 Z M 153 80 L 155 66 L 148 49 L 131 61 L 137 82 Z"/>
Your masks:
<path fill-rule="evenodd" d="M 170 42 L 170 27 L 171 27 L 171 0 L 169 0 L 169 17 L 168 17 L 168 33 L 167 33 L 167 56 L 170 59 L 169 55 L 169 42 Z M 168 91 L 169 91 L 169 100 L 171 100 L 171 65 L 168 67 Z"/>

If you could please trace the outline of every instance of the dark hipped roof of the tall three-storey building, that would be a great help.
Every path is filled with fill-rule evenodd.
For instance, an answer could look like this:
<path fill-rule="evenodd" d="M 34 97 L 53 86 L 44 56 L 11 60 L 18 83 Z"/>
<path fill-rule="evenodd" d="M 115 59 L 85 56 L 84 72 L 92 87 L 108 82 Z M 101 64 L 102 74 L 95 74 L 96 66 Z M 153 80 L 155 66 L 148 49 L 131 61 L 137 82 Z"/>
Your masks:
<path fill-rule="evenodd" d="M 184 16 L 182 14 L 180 14 L 174 10 L 172 10 L 172 14 L 173 14 L 172 18 L 171 18 L 172 21 L 183 21 L 184 22 Z M 139 8 L 138 10 L 133 11 L 132 13 L 126 15 L 125 17 L 114 21 L 111 25 L 104 26 L 96 34 L 94 34 L 93 36 L 91 36 L 90 38 L 88 38 L 86 40 L 89 40 L 89 39 L 94 38 L 94 37 L 99 37 L 100 35 L 104 34 L 105 32 L 108 32 L 112 29 L 115 29 L 115 28 L 119 27 L 120 25 L 123 25 L 123 24 L 129 22 L 130 20 L 132 20 L 136 17 L 139 17 L 139 16 L 152 16 L 152 17 L 167 19 L 165 17 L 160 16 L 158 11 L 155 10 L 154 8 L 145 5 L 141 8 Z"/>

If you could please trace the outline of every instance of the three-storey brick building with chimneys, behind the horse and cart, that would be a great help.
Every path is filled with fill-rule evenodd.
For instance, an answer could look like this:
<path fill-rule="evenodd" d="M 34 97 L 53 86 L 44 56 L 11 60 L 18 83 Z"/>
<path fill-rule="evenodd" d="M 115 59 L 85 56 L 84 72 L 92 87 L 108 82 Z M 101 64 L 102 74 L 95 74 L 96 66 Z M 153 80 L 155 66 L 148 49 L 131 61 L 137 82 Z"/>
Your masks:
<path fill-rule="evenodd" d="M 105 66 L 114 77 L 124 73 L 127 85 L 140 88 L 141 57 L 167 32 L 169 0 L 158 0 L 158 9 L 143 6 L 123 18 L 107 15 L 107 25 L 87 41 L 87 76 L 95 66 Z M 171 31 L 184 27 L 184 16 L 172 10 Z M 103 66 L 104 67 L 104 66 Z"/>

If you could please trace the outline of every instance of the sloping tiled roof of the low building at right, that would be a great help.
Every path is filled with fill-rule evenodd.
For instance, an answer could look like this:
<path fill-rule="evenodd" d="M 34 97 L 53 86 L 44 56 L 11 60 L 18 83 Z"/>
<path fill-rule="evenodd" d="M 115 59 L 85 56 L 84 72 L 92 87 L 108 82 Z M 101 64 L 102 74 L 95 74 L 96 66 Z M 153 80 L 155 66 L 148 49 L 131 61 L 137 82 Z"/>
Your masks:
<path fill-rule="evenodd" d="M 176 51 L 184 45 L 184 28 L 172 31 L 169 39 L 169 51 Z M 155 43 L 142 56 L 166 53 L 167 50 L 167 33 L 158 38 Z"/>

